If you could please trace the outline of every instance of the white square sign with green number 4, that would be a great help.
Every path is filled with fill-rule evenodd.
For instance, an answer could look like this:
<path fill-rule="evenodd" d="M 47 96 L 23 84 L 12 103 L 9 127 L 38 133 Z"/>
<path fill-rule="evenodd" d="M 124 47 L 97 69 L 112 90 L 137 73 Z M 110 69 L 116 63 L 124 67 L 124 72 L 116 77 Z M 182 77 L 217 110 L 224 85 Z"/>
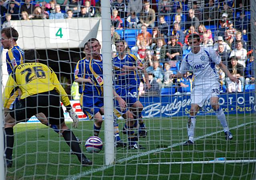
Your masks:
<path fill-rule="evenodd" d="M 50 43 L 67 43 L 69 42 L 68 23 L 50 23 Z"/>

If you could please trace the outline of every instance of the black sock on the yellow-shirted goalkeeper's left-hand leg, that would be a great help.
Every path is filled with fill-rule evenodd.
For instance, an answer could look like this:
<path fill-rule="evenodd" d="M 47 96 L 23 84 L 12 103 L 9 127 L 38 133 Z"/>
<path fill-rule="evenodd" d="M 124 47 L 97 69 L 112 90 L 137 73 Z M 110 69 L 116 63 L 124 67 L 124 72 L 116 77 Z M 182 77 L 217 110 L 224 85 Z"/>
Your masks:
<path fill-rule="evenodd" d="M 4 138 L 4 149 L 7 160 L 12 160 L 12 149 L 14 144 L 14 134 L 13 128 L 4 128 L 5 137 Z M 6 140 L 6 143 L 5 143 Z"/>

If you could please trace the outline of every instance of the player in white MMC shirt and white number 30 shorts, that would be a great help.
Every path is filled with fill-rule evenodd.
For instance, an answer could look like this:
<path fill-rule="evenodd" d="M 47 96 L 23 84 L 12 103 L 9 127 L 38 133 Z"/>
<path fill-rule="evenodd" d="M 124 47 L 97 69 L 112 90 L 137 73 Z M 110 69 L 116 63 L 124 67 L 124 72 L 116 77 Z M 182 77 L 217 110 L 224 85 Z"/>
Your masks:
<path fill-rule="evenodd" d="M 188 141 L 184 145 L 194 144 L 194 131 L 196 126 L 196 114 L 202 108 L 206 100 L 210 99 L 220 124 L 224 128 L 226 140 L 232 140 L 233 136 L 229 131 L 226 116 L 220 108 L 219 102 L 219 82 L 215 65 L 225 72 L 231 81 L 238 83 L 238 79 L 230 74 L 227 67 L 221 62 L 221 58 L 216 51 L 210 47 L 200 46 L 200 37 L 191 34 L 188 40 L 191 50 L 183 58 L 180 71 L 172 74 L 173 78 L 182 78 L 187 71 L 192 71 L 194 75 L 194 87 L 191 92 L 191 108 L 188 119 Z"/>

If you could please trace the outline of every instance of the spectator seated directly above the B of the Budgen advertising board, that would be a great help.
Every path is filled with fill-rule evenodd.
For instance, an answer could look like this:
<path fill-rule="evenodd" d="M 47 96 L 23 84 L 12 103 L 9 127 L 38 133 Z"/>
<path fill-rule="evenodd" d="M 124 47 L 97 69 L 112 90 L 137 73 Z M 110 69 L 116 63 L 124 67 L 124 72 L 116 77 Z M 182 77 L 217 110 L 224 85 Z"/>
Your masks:
<path fill-rule="evenodd" d="M 151 88 L 149 89 L 148 86 L 144 85 L 144 95 L 145 96 L 160 95 L 159 83 L 157 82 L 153 72 L 148 72 L 148 80 L 151 85 Z M 143 91 L 142 91 L 142 94 L 143 94 Z"/>

